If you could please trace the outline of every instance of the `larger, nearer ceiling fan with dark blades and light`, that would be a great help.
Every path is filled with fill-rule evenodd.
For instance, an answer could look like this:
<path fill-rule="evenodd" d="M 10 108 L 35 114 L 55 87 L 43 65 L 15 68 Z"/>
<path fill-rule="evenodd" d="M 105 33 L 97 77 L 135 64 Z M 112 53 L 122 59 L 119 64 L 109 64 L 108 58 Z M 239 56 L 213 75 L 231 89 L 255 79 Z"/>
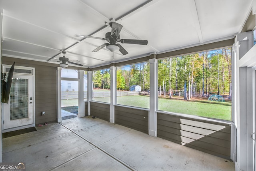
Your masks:
<path fill-rule="evenodd" d="M 98 48 L 94 49 L 92 52 L 98 52 L 102 48 L 106 47 L 110 52 L 120 51 L 123 55 L 128 54 L 128 52 L 117 42 L 121 42 L 123 44 L 140 44 L 140 45 L 147 45 L 148 40 L 136 40 L 136 39 L 120 39 L 120 31 L 122 30 L 122 25 L 116 22 L 110 22 L 110 27 L 112 28 L 111 32 L 107 32 L 105 34 L 105 38 L 98 38 L 93 36 L 84 36 L 75 34 L 76 37 L 83 37 L 83 38 L 93 38 L 93 39 L 100 39 L 106 40 L 108 43 L 102 44 Z"/>

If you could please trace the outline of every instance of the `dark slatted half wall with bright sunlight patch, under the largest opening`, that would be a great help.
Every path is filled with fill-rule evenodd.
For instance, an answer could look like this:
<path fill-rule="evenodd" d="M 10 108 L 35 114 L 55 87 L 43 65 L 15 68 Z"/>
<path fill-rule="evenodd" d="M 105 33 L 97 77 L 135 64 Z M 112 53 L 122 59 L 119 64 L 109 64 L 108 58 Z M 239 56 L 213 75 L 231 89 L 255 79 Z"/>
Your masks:
<path fill-rule="evenodd" d="M 158 113 L 158 137 L 230 159 L 231 126 Z"/>

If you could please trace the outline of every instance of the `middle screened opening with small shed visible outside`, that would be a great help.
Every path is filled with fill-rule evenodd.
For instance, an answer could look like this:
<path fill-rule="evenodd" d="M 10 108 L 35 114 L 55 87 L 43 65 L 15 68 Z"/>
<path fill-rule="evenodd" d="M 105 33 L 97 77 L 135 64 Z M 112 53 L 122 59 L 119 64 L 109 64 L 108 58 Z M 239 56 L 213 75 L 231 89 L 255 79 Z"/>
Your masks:
<path fill-rule="evenodd" d="M 116 68 L 116 104 L 149 109 L 149 63 Z"/>

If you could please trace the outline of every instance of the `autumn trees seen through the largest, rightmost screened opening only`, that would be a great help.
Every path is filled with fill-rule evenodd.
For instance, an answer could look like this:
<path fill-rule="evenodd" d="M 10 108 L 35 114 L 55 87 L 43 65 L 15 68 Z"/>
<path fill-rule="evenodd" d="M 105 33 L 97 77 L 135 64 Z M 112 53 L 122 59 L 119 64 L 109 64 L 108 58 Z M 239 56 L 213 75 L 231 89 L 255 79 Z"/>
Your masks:
<path fill-rule="evenodd" d="M 231 96 L 231 48 L 158 60 L 158 86 L 184 91 L 184 99 L 193 93 Z"/>

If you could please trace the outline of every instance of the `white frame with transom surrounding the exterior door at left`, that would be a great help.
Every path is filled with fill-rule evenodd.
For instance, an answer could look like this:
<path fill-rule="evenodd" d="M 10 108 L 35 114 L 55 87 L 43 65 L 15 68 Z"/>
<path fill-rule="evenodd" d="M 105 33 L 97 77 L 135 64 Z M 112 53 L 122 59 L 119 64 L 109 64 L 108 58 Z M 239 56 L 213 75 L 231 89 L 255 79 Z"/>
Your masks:
<path fill-rule="evenodd" d="M 5 73 L 6 72 L 6 68 L 10 68 L 11 65 L 3 65 L 2 68 L 2 72 Z M 15 69 L 19 69 L 19 70 L 31 70 L 31 73 L 20 73 L 20 72 L 15 72 Z M 32 82 L 33 82 L 33 123 L 29 124 L 29 125 L 24 125 L 24 126 L 20 126 L 20 127 L 14 127 L 14 128 L 9 128 L 9 129 L 4 129 L 4 125 L 2 125 L 2 133 L 5 132 L 10 132 L 10 131 L 16 131 L 19 129 L 24 129 L 24 128 L 28 128 L 28 127 L 34 127 L 36 125 L 36 115 L 35 115 L 35 111 L 36 111 L 36 105 L 35 105 L 35 69 L 33 67 L 25 67 L 25 66 L 14 66 L 14 73 L 15 75 L 22 75 L 22 76 L 32 76 Z M 2 120 L 4 119 L 4 107 L 2 105 Z M 4 123 L 3 123 L 4 124 Z"/>

